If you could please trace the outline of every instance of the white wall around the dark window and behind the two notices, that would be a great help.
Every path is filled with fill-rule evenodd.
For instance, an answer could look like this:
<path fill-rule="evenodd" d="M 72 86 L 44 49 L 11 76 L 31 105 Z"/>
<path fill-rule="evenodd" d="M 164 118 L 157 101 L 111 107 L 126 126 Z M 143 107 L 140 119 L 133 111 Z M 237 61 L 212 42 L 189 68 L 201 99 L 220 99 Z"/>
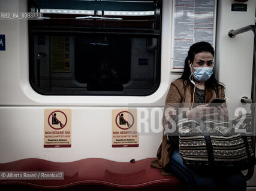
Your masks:
<path fill-rule="evenodd" d="M 172 1 L 163 3 L 161 85 L 147 97 L 42 96 L 35 93 L 29 84 L 28 23 L 26 20 L 0 20 L 0 33 L 6 39 L 6 51 L 0 51 L 0 162 L 23 158 L 56 162 L 106 158 L 127 162 L 132 158 L 155 157 L 161 133 L 140 135 L 139 147 L 112 148 L 111 113 L 112 109 L 128 106 L 138 110 L 164 106 L 173 76 L 170 76 Z M 0 0 L 0 11 L 26 11 L 26 1 Z M 71 148 L 43 147 L 44 109 L 56 107 L 72 110 Z M 158 121 L 155 123 L 158 128 Z"/>

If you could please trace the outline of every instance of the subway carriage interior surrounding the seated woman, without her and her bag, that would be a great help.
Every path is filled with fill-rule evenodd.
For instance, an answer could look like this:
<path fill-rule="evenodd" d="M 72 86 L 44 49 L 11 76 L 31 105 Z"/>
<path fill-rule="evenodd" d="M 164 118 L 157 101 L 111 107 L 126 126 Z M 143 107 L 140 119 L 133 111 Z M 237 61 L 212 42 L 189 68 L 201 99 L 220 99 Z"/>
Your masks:
<path fill-rule="evenodd" d="M 0 190 L 186 190 L 152 167 L 170 84 L 189 47 L 209 42 L 229 118 L 251 113 L 254 132 L 255 10 L 256 0 L 0 0 Z M 242 172 L 256 191 L 254 165 Z"/>

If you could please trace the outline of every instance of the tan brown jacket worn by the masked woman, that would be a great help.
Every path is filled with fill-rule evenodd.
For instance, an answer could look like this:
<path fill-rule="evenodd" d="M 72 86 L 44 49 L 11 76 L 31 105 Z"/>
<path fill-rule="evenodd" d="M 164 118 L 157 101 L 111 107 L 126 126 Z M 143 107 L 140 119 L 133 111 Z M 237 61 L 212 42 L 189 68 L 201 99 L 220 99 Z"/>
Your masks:
<path fill-rule="evenodd" d="M 168 121 L 168 118 L 174 119 L 179 114 L 179 108 L 187 108 L 187 110 L 191 109 L 192 106 L 192 94 L 194 93 L 194 85 L 191 83 L 188 86 L 183 84 L 182 79 L 177 79 L 172 82 L 170 85 L 170 90 L 168 91 L 165 107 L 164 107 L 164 116 L 162 118 L 162 125 L 168 125 L 168 128 L 171 128 L 172 124 Z M 206 88 L 205 90 L 205 103 L 210 103 L 214 98 L 225 98 L 224 87 L 218 88 L 218 90 L 212 90 L 210 88 Z M 224 103 L 225 104 L 225 103 Z M 197 97 L 194 94 L 194 104 L 193 108 L 196 107 Z M 162 136 L 162 143 L 159 146 L 159 149 L 156 154 L 156 158 L 164 168 L 170 162 L 170 155 L 173 152 L 173 146 L 167 143 L 167 136 Z"/>

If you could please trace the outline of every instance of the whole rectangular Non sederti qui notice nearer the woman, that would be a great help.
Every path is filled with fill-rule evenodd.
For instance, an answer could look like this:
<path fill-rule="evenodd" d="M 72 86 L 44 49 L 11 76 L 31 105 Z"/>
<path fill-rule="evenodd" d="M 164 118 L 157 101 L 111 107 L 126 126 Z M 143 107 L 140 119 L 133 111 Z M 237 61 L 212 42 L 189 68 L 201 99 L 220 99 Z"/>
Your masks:
<path fill-rule="evenodd" d="M 138 147 L 137 110 L 112 110 L 112 147 Z"/>

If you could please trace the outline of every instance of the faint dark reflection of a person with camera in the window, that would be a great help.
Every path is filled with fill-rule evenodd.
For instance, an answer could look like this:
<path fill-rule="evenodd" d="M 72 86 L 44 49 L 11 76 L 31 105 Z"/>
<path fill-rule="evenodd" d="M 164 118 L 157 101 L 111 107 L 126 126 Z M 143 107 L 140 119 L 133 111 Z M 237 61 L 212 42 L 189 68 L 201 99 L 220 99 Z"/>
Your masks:
<path fill-rule="evenodd" d="M 101 60 L 100 70 L 91 75 L 87 86 L 89 91 L 122 91 L 115 69 L 110 68 L 109 61 Z"/>

